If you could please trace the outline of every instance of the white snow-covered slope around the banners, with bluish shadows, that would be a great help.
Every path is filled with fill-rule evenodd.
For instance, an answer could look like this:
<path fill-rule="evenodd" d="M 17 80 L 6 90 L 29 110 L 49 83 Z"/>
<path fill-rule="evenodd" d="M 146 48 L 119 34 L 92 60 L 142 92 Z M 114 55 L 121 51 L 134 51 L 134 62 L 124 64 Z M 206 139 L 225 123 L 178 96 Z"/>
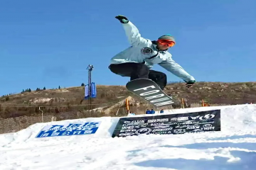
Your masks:
<path fill-rule="evenodd" d="M 0 135 L 0 169 L 256 169 L 256 105 L 186 108 L 169 113 L 214 109 L 221 109 L 220 132 L 112 138 L 119 118 L 104 117 L 79 120 L 101 120 L 94 135 L 36 138 L 51 124 L 37 123 Z"/>

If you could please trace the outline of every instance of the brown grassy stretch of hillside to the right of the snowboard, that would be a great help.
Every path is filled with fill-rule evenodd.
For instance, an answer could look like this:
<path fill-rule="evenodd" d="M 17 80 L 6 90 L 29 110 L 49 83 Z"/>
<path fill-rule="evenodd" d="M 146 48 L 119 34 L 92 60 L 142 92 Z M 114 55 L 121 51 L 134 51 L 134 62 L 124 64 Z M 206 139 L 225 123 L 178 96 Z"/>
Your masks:
<path fill-rule="evenodd" d="M 256 82 L 198 82 L 192 89 L 186 89 L 183 84 L 169 84 L 166 93 L 186 98 L 189 103 L 198 103 L 201 99 L 215 104 L 255 103 Z"/>

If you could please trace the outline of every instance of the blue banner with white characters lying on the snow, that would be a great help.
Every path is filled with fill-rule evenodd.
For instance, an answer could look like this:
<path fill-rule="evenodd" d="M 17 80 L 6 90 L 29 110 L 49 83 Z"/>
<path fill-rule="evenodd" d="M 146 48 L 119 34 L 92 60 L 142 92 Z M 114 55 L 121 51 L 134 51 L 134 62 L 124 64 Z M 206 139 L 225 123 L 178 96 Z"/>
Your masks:
<path fill-rule="evenodd" d="M 38 133 L 38 137 L 56 137 L 72 135 L 90 135 L 95 134 L 100 127 L 101 122 L 87 123 L 65 123 L 60 125 L 47 125 Z"/>

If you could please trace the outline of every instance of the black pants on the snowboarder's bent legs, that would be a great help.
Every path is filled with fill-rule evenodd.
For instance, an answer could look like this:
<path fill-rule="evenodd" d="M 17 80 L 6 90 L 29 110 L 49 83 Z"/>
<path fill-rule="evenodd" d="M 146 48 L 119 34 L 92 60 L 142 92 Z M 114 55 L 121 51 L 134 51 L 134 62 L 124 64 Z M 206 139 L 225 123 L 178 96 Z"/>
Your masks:
<path fill-rule="evenodd" d="M 145 64 L 127 62 L 123 64 L 110 64 L 111 72 L 122 77 L 131 77 L 130 80 L 146 78 L 156 82 L 163 90 L 167 84 L 166 74 L 149 69 Z"/>

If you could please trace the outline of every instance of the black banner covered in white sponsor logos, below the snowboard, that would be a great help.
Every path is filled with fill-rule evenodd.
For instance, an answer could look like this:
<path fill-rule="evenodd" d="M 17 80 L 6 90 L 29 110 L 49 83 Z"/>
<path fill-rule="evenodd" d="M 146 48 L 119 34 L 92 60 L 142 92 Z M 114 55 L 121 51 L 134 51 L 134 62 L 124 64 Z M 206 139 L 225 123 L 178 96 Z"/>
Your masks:
<path fill-rule="evenodd" d="M 112 137 L 220 131 L 220 110 L 120 118 Z"/>

